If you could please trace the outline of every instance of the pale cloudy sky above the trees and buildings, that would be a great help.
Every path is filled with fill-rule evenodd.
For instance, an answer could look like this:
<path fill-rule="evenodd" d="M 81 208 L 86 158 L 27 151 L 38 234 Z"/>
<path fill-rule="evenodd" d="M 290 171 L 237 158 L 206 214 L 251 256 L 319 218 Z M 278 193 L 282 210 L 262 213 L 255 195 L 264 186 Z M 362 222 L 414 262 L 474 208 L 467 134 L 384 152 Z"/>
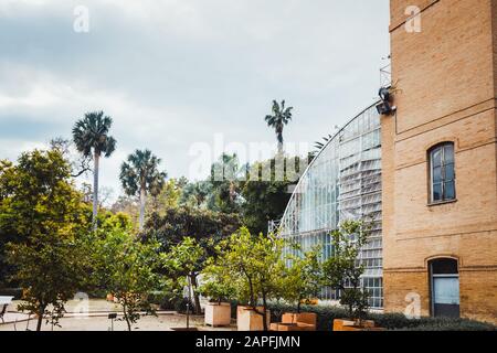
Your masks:
<path fill-rule="evenodd" d="M 274 142 L 272 99 L 295 107 L 286 141 L 311 143 L 376 99 L 388 25 L 389 0 L 0 0 L 0 158 L 104 110 L 118 149 L 102 184 L 118 193 L 136 148 L 194 176 L 215 137 Z"/>

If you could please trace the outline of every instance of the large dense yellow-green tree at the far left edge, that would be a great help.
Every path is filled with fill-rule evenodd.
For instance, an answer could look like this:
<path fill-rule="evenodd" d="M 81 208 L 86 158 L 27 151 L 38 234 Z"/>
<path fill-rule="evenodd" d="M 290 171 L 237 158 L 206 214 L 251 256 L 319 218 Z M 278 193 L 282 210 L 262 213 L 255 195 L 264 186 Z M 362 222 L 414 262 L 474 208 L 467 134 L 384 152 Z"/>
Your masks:
<path fill-rule="evenodd" d="M 77 235 L 89 224 L 70 174 L 57 150 L 23 153 L 15 165 L 0 162 L 0 234 L 9 235 L 3 256 L 12 281 L 24 289 L 19 309 L 38 315 L 36 330 L 46 315 L 56 321 L 84 286 Z"/>

